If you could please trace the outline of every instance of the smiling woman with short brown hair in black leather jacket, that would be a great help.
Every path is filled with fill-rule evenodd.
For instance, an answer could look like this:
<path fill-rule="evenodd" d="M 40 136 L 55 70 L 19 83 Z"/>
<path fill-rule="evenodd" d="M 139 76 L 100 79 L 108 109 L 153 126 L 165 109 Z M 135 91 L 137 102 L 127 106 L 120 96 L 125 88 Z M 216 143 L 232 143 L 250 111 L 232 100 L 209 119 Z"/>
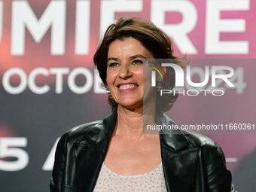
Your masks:
<path fill-rule="evenodd" d="M 160 88 L 174 87 L 175 76 L 164 69 L 168 78 L 151 87 L 145 66 L 154 58 L 177 60 L 168 36 L 149 20 L 121 18 L 108 27 L 94 62 L 112 113 L 62 136 L 52 192 L 234 191 L 224 154 L 212 140 L 181 130 L 143 132 L 143 122 L 175 125 L 163 112 L 177 95 L 167 103 L 157 99 Z"/>

